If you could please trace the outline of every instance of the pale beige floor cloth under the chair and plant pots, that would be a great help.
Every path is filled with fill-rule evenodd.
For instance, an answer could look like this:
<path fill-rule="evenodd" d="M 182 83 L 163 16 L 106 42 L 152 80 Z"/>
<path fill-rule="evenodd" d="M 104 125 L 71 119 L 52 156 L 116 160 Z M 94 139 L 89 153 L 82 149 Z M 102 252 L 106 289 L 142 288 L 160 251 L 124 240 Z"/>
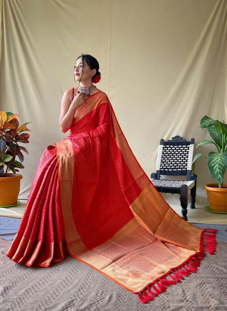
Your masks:
<path fill-rule="evenodd" d="M 173 210 L 181 215 L 181 206 L 179 195 L 162 193 L 164 199 L 173 208 Z M 0 216 L 21 218 L 25 210 L 27 201 L 22 201 L 16 207 L 0 207 Z M 227 225 L 227 214 L 211 213 L 204 209 L 205 206 L 209 205 L 207 198 L 197 195 L 196 197 L 196 208 L 190 208 L 190 195 L 188 195 L 188 221 L 191 223 L 201 223 L 201 224 L 217 224 L 217 225 Z"/>

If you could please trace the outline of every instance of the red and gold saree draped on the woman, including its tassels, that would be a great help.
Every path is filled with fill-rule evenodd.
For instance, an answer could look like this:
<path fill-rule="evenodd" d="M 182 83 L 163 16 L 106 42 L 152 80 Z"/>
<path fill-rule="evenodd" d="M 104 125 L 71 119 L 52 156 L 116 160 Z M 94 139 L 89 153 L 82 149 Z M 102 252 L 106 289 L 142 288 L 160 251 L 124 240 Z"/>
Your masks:
<path fill-rule="evenodd" d="M 70 134 L 43 152 L 6 256 L 49 267 L 69 253 L 145 303 L 195 272 L 204 250 L 214 253 L 215 232 L 168 205 L 98 91 L 76 110 Z"/>

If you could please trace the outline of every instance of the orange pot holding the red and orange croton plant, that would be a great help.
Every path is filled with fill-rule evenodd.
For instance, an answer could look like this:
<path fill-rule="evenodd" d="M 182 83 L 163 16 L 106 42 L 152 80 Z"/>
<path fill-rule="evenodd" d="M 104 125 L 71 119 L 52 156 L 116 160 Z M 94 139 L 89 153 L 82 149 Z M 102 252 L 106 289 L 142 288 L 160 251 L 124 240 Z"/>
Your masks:
<path fill-rule="evenodd" d="M 6 173 L 6 177 L 0 177 L 0 206 L 17 204 L 20 192 L 21 174 Z"/>

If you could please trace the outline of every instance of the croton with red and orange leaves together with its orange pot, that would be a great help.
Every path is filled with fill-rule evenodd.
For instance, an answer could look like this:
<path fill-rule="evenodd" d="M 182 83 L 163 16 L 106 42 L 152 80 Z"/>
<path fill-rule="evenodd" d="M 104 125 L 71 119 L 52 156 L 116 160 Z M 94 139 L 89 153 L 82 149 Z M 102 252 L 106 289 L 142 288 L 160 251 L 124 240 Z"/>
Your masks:
<path fill-rule="evenodd" d="M 19 126 L 17 120 L 19 114 L 12 112 L 0 111 L 0 206 L 10 206 L 17 204 L 18 194 L 20 192 L 21 174 L 17 174 L 19 169 L 23 169 L 24 156 L 21 152 L 28 154 L 25 147 L 19 146 L 18 143 L 28 143 L 29 134 L 21 133 L 30 131 L 25 123 Z M 16 160 L 18 156 L 19 161 Z M 6 170 L 4 172 L 4 165 Z M 12 173 L 8 173 L 12 171 Z"/>

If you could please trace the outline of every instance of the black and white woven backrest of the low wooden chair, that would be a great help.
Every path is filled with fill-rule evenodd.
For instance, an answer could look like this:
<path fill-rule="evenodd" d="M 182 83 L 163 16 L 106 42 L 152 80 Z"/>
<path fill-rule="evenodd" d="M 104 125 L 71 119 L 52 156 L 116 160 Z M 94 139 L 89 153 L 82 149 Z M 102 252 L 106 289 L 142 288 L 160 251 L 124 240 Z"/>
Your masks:
<path fill-rule="evenodd" d="M 195 139 L 191 141 L 175 136 L 167 142 L 162 138 L 156 163 L 157 179 L 160 175 L 186 175 L 190 180 Z"/>

